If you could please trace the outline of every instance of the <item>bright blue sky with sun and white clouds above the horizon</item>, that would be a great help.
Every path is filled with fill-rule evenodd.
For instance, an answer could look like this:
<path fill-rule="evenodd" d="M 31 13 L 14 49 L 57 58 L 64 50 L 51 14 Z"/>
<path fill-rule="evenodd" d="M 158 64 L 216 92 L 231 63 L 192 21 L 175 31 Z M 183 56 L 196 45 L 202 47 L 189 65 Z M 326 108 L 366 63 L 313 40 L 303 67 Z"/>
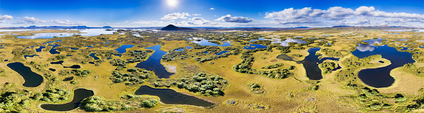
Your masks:
<path fill-rule="evenodd" d="M 424 27 L 424 1 L 0 1 L 0 27 Z"/>

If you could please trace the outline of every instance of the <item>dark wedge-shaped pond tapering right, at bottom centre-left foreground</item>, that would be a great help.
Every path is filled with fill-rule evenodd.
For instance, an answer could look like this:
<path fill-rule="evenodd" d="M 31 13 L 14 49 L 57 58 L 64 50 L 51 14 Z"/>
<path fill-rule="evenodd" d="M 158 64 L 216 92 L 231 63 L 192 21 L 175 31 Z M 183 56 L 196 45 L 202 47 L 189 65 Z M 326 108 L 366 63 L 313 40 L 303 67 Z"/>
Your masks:
<path fill-rule="evenodd" d="M 188 96 L 185 94 L 178 93 L 172 89 L 157 89 L 149 86 L 141 86 L 135 92 L 135 95 L 154 95 L 158 96 L 160 100 L 166 104 L 186 104 L 196 106 L 212 106 L 214 104 L 196 98 L 194 96 Z"/>

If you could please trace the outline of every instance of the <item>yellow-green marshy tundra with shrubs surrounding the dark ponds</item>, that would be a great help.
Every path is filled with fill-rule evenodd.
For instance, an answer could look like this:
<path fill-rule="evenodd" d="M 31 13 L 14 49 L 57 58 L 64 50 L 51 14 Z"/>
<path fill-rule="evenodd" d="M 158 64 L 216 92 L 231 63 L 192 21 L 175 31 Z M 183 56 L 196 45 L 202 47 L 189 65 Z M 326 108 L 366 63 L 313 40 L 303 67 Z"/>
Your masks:
<path fill-rule="evenodd" d="M 4 37 L 0 38 L 3 45 L 0 49 L 0 111 L 56 112 L 42 109 L 40 104 L 68 103 L 73 100 L 73 90 L 85 88 L 93 90 L 94 95 L 81 101 L 79 108 L 66 112 L 421 112 L 424 109 L 424 42 L 418 40 L 424 40 L 424 36 L 411 31 L 402 32 L 403 35 L 385 34 L 388 32 L 384 31 L 386 29 L 392 28 L 288 28 L 273 32 L 264 32 L 267 30 L 263 29 L 112 30 L 114 33 L 108 35 L 76 34 L 51 39 L 17 39 L 14 35 L 1 35 Z M 28 36 L 64 32 L 79 33 L 73 30 L 11 33 Z M 203 45 L 189 40 L 195 37 L 222 46 Z M 393 47 L 397 51 L 410 53 L 415 60 L 414 63 L 388 70 L 395 82 L 384 88 L 363 83 L 358 78 L 358 72 L 385 67 L 394 61 L 381 55 L 358 58 L 351 53 L 357 49 L 372 52 L 371 48 L 361 48 L 359 43 L 369 44 L 371 42 L 363 41 L 379 37 L 384 37 L 384 40 L 373 47 Z M 273 42 L 289 38 L 306 43 L 289 42 L 282 46 L 284 44 Z M 224 46 L 224 41 L 230 46 Z M 43 44 L 46 42 L 49 43 Z M 60 47 L 52 49 L 52 46 L 48 46 L 54 44 Z M 115 50 L 129 44 L 135 46 L 127 48 L 125 53 Z M 249 44 L 266 47 L 244 49 Z M 85 47 L 88 45 L 92 47 Z M 155 50 L 146 48 L 155 45 L 161 45 L 161 50 L 167 52 L 154 59 L 160 61 L 165 71 L 175 73 L 169 78 L 158 78 L 159 72 L 154 70 L 158 67 L 154 65 L 135 67 L 139 62 L 153 58 L 151 55 Z M 45 48 L 39 49 L 41 46 Z M 308 49 L 318 47 L 320 51 L 308 52 Z M 400 47 L 408 47 L 409 50 L 401 50 Z M 50 54 L 53 50 L 60 53 Z M 221 51 L 230 52 L 217 55 Z M 99 59 L 94 60 L 90 56 L 92 53 L 96 53 Z M 294 61 L 276 58 L 281 54 L 287 54 Z M 39 56 L 25 59 L 24 55 Z M 298 62 L 309 55 L 340 60 L 318 64 L 317 69 L 321 70 L 323 78 L 310 80 L 304 67 L 308 64 Z M 62 65 L 50 64 L 57 61 L 63 61 Z M 13 62 L 21 62 L 41 75 L 41 85 L 23 86 L 23 77 L 7 66 Z M 80 68 L 69 68 L 73 65 Z M 334 70 L 338 66 L 341 68 Z M 65 80 L 69 77 L 73 79 Z M 166 104 L 161 102 L 163 99 L 158 95 L 135 95 L 134 91 L 144 85 L 172 89 L 214 105 Z"/>

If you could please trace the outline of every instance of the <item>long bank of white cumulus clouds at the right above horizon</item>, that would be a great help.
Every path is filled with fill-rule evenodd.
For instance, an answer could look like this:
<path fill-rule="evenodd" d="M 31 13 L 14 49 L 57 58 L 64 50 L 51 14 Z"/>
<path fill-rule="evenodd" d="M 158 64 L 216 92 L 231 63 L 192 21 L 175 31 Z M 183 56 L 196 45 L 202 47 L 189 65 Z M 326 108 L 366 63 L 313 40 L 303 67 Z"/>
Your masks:
<path fill-rule="evenodd" d="M 303 9 L 285 9 L 279 12 L 265 13 L 266 19 L 272 19 L 273 24 L 311 24 L 322 23 L 321 20 L 336 21 L 340 24 L 378 24 L 373 22 L 374 19 L 386 19 L 385 22 L 405 23 L 405 22 L 421 22 L 424 23 L 424 16 L 419 14 L 408 13 L 386 13 L 376 10 L 374 7 L 359 7 L 352 10 L 342 7 L 331 7 L 327 10 L 303 8 Z M 355 19 L 356 18 L 356 19 Z M 389 18 L 389 19 L 388 19 Z M 349 19 L 355 19 L 351 21 Z M 378 20 L 381 21 L 381 20 Z"/>

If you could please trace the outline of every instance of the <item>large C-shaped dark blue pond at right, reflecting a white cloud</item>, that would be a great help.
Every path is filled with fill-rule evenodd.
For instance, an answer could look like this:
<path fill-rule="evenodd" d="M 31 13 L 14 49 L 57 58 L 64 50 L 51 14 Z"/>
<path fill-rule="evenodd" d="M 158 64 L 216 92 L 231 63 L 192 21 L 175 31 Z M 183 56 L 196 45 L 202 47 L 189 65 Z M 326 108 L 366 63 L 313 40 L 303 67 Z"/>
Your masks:
<path fill-rule="evenodd" d="M 380 54 L 382 58 L 390 60 L 391 64 L 386 67 L 361 70 L 358 73 L 358 77 L 365 84 L 373 87 L 380 88 L 391 86 L 395 79 L 390 76 L 390 71 L 406 63 L 414 63 L 415 61 L 412 59 L 412 54 L 408 52 L 397 51 L 396 48 L 388 47 L 387 45 L 377 47 L 373 44 L 374 43 L 369 43 L 367 45 L 358 44 L 357 50 L 351 53 L 359 58 Z"/>

